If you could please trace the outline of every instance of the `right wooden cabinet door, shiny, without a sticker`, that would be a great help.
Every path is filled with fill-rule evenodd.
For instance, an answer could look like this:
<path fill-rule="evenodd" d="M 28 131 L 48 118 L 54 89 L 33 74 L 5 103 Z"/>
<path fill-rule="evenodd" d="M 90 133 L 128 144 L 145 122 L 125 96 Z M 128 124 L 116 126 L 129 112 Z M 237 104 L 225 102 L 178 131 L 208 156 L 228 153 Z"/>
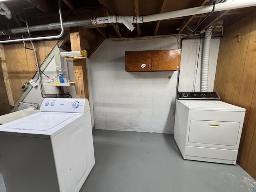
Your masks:
<path fill-rule="evenodd" d="M 152 51 L 152 71 L 180 70 L 181 50 Z"/>

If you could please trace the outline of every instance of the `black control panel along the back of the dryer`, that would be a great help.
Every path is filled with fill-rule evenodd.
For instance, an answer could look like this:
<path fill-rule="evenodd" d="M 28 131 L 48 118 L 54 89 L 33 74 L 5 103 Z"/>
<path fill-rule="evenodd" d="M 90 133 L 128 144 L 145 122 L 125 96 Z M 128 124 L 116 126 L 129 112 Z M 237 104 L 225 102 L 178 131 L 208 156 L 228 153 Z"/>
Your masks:
<path fill-rule="evenodd" d="M 178 100 L 220 100 L 216 92 L 178 92 Z"/>

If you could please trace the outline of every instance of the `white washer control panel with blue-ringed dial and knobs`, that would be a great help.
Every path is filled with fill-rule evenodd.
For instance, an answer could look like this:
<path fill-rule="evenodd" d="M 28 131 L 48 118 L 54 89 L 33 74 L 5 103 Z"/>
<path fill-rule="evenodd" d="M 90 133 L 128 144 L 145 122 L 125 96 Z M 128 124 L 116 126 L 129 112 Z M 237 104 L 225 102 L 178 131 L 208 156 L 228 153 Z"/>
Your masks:
<path fill-rule="evenodd" d="M 41 105 L 41 111 L 48 112 L 85 113 L 88 110 L 88 100 L 78 98 L 45 98 Z"/>

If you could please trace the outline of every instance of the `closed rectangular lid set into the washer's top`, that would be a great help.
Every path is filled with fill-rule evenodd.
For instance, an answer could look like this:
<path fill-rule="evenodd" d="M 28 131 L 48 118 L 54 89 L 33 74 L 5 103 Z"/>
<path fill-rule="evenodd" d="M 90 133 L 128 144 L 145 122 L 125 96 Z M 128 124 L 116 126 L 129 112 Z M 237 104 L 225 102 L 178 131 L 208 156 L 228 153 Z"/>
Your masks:
<path fill-rule="evenodd" d="M 8 124 L 6 128 L 18 130 L 48 131 L 73 116 L 75 116 L 75 114 L 63 115 L 60 113 L 45 112 L 38 114 L 38 116 L 23 118 L 20 121 Z"/>

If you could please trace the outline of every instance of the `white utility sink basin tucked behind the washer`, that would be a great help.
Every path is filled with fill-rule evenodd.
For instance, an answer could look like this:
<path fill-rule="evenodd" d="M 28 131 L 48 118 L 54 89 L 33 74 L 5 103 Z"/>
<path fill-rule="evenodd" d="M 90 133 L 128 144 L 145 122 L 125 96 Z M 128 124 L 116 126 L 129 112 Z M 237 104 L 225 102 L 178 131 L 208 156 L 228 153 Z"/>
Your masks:
<path fill-rule="evenodd" d="M 35 114 L 37 112 L 40 112 L 40 110 L 34 110 L 34 108 L 27 108 L 27 109 L 19 110 L 16 112 L 8 113 L 5 115 L 1 115 L 0 116 L 0 124 L 5 124 L 8 122 L 20 119 L 22 117 L 26 117 L 26 116 Z"/>

